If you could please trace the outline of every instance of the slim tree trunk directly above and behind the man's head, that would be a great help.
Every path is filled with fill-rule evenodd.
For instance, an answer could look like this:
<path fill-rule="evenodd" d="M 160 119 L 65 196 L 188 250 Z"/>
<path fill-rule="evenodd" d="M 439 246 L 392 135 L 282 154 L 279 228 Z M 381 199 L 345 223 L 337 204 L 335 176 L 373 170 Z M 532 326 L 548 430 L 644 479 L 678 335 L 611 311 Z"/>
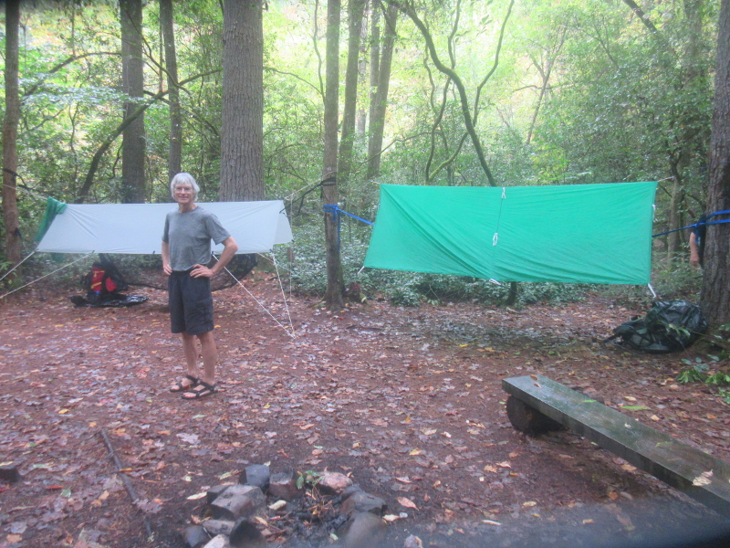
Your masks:
<path fill-rule="evenodd" d="M 172 0 L 160 0 L 160 25 L 165 48 L 168 102 L 170 104 L 170 145 L 167 157 L 168 183 L 182 171 L 183 117 L 180 113 L 180 93 L 177 88 L 177 54 L 175 52 Z M 172 198 L 171 198 L 172 199 Z"/>

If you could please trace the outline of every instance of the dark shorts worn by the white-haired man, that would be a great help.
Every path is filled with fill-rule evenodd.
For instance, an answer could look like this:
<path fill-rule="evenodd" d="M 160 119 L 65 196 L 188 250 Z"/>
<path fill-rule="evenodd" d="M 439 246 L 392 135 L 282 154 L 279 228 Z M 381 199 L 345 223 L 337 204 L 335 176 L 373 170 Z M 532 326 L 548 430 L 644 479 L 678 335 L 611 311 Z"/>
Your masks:
<path fill-rule="evenodd" d="M 200 335 L 214 330 L 210 278 L 193 278 L 190 270 L 174 271 L 167 281 L 173 333 Z"/>

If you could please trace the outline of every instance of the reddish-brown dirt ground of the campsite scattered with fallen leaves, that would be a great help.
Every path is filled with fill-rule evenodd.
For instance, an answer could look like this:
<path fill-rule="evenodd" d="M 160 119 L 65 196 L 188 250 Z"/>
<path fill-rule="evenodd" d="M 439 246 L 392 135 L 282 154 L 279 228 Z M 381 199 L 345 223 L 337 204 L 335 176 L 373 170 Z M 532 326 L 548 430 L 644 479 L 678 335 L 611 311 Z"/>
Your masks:
<path fill-rule="evenodd" d="M 506 417 L 501 380 L 539 373 L 730 461 L 730 406 L 673 381 L 693 352 L 600 343 L 645 311 L 592 295 L 329 313 L 268 274 L 244 283 L 274 318 L 215 293 L 221 390 L 200 401 L 167 389 L 183 355 L 162 291 L 128 291 L 149 300 L 126 309 L 75 308 L 73 290 L 0 301 L 0 461 L 23 475 L 0 483 L 0 547 L 182 548 L 203 508 L 188 497 L 262 463 L 349 474 L 404 512 L 388 546 L 678 545 L 727 525 L 583 438 Z"/>

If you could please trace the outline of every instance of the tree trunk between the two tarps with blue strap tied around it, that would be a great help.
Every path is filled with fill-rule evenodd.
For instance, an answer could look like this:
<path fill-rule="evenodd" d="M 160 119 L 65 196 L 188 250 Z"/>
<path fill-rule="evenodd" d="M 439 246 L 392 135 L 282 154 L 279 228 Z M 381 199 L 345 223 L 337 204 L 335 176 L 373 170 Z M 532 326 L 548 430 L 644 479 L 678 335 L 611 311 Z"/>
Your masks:
<path fill-rule="evenodd" d="M 324 205 L 337 205 L 337 121 L 339 95 L 339 0 L 327 3 L 327 82 L 325 83 L 325 135 L 322 179 Z M 345 284 L 342 279 L 342 264 L 339 258 L 337 215 L 325 213 L 325 247 L 327 248 L 327 292 L 325 303 L 329 310 L 344 306 L 342 293 Z"/>

